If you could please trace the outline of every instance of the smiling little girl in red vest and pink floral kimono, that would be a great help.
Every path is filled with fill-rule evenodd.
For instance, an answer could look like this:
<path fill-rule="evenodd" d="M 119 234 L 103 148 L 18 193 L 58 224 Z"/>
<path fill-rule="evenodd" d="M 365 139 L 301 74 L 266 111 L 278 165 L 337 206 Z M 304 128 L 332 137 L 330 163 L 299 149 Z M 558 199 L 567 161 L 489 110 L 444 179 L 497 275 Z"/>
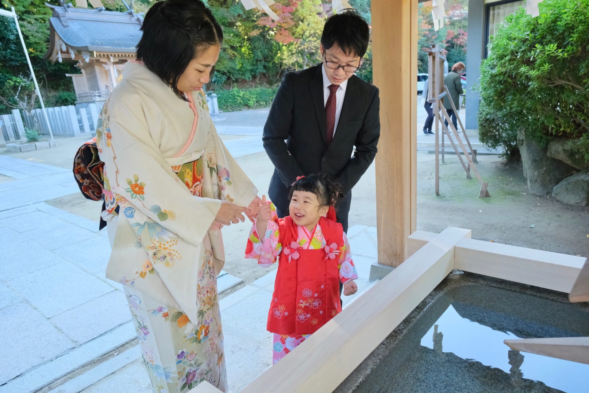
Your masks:
<path fill-rule="evenodd" d="M 342 311 L 343 294 L 358 290 L 358 278 L 342 225 L 335 222 L 339 186 L 326 175 L 297 178 L 290 215 L 279 219 L 264 197 L 247 240 L 246 258 L 264 267 L 279 260 L 267 329 L 274 333 L 276 363 Z"/>

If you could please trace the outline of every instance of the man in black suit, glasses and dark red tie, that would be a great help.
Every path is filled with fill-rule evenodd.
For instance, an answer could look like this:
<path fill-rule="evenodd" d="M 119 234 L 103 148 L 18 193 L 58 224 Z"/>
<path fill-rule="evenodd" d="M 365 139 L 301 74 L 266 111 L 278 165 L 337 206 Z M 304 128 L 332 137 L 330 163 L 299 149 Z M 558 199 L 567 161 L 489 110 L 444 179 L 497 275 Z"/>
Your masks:
<path fill-rule="evenodd" d="M 289 214 L 297 176 L 329 173 L 343 187 L 337 222 L 348 232 L 352 187 L 374 160 L 380 136 L 378 88 L 354 75 L 368 41 L 358 12 L 333 15 L 323 28 L 322 64 L 284 75 L 263 136 L 275 167 L 269 196 L 279 217 Z"/>

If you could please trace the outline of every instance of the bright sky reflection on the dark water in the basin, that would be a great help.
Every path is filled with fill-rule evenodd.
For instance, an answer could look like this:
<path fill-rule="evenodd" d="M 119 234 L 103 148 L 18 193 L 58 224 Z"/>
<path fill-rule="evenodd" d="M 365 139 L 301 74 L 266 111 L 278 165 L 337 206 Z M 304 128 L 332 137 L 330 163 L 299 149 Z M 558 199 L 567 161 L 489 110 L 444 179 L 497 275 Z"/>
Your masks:
<path fill-rule="evenodd" d="M 435 325 L 423 336 L 421 345 L 438 355 L 450 352 L 468 361 L 480 362 L 511 374 L 515 385 L 522 379 L 544 382 L 548 387 L 567 393 L 585 393 L 589 365 L 535 354 L 520 354 L 504 344 L 505 339 L 519 338 L 511 332 L 496 331 L 489 326 L 462 318 L 450 305 Z M 442 341 L 444 350 L 442 351 Z"/>

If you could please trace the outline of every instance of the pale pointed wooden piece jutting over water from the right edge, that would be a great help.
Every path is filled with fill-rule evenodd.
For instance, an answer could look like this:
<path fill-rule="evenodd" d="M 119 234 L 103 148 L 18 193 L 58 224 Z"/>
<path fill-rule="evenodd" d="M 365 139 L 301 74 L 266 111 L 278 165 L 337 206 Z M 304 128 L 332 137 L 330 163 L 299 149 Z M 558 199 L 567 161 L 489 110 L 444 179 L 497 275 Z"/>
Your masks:
<path fill-rule="evenodd" d="M 515 351 L 589 364 L 589 337 L 522 338 L 504 343 Z"/>

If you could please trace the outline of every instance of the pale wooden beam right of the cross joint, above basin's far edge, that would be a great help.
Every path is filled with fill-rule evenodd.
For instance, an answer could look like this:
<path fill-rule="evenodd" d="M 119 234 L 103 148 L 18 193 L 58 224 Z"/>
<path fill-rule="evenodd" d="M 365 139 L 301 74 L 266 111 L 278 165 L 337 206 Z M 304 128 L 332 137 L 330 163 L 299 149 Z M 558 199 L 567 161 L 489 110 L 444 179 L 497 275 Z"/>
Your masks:
<path fill-rule="evenodd" d="M 455 268 L 569 293 L 584 257 L 463 239 L 455 247 Z"/>

